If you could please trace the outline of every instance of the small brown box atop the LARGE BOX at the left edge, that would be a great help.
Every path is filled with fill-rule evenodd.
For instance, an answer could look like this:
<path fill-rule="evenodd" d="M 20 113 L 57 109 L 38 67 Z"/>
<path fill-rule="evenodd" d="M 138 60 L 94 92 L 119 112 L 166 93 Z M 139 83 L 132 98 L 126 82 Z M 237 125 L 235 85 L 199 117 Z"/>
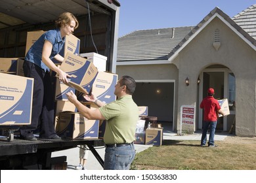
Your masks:
<path fill-rule="evenodd" d="M 0 72 L 16 74 L 18 58 L 0 58 Z"/>

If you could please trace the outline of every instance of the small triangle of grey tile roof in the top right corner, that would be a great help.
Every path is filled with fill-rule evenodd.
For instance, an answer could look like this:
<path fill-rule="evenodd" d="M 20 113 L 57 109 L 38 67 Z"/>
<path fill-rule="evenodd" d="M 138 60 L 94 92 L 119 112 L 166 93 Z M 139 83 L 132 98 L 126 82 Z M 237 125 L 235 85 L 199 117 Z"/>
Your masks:
<path fill-rule="evenodd" d="M 246 8 L 232 18 L 244 31 L 256 39 L 256 4 Z"/>

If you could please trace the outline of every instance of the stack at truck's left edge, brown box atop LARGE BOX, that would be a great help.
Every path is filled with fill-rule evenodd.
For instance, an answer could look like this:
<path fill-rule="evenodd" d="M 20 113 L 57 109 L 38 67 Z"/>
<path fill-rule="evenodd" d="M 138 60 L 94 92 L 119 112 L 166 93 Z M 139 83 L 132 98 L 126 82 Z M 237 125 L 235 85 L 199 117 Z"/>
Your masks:
<path fill-rule="evenodd" d="M 0 125 L 31 124 L 33 78 L 24 77 L 23 61 L 0 58 Z"/>

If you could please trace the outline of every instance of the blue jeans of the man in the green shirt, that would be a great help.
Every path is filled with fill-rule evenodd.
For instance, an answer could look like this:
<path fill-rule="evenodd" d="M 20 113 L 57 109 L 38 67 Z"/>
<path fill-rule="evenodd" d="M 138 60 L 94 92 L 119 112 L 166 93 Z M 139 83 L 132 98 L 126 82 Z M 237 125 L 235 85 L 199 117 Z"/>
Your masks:
<path fill-rule="evenodd" d="M 135 159 L 133 143 L 127 146 L 106 147 L 104 170 L 129 170 Z"/>

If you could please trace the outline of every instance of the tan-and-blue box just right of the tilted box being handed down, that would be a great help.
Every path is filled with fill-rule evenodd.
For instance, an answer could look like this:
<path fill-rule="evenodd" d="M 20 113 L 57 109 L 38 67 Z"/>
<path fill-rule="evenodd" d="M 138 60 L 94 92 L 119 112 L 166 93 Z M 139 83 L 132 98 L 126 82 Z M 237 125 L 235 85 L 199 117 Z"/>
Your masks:
<path fill-rule="evenodd" d="M 92 93 L 103 103 L 116 101 L 115 86 L 117 84 L 117 75 L 98 71 L 98 75 L 93 82 Z M 81 102 L 87 102 L 83 93 L 77 92 L 77 99 Z"/>

